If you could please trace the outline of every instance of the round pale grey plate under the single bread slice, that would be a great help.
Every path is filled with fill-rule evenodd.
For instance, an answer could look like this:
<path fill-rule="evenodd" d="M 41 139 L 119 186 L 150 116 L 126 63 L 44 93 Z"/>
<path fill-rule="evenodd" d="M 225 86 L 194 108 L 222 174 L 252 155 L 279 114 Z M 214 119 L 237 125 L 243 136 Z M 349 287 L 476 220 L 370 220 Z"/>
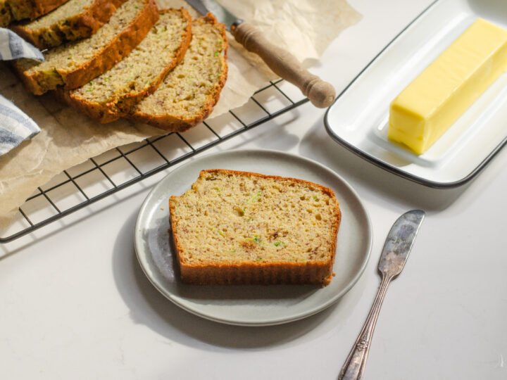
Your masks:
<path fill-rule="evenodd" d="M 182 284 L 168 234 L 168 198 L 190 188 L 204 169 L 261 172 L 296 177 L 330 187 L 342 210 L 331 284 L 198 286 Z M 192 160 L 162 179 L 147 196 L 135 227 L 135 249 L 144 273 L 169 300 L 216 322 L 244 326 L 282 324 L 332 305 L 361 276 L 372 244 L 370 218 L 356 191 L 332 170 L 306 158 L 277 151 L 225 151 Z"/>

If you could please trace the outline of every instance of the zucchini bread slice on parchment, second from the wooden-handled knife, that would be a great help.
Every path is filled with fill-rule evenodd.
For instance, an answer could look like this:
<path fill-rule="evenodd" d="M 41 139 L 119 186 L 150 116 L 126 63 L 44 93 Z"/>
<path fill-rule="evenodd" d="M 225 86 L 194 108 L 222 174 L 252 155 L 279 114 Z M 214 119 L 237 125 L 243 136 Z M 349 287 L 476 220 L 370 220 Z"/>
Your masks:
<path fill-rule="evenodd" d="M 63 91 L 70 106 L 100 122 L 126 115 L 151 94 L 179 63 L 192 39 L 192 17 L 184 9 L 160 12 L 148 35 L 110 70 L 72 91 Z"/>

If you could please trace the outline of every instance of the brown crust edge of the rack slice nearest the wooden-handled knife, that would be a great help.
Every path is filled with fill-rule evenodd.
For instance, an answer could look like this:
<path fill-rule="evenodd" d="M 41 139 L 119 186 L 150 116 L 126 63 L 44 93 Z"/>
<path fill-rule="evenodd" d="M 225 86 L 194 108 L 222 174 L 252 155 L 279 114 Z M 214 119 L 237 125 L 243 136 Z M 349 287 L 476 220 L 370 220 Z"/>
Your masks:
<path fill-rule="evenodd" d="M 222 23 L 218 23 L 218 20 L 212 13 L 208 13 L 206 16 L 203 16 L 203 18 L 206 20 L 206 22 L 211 23 L 212 25 L 220 28 L 222 39 L 224 42 L 223 70 L 220 75 L 220 79 L 218 80 L 217 84 L 215 85 L 215 88 L 213 89 L 213 93 L 206 102 L 206 106 L 204 107 L 203 112 L 192 119 L 180 119 L 175 118 L 171 115 L 152 115 L 149 113 L 140 113 L 140 112 L 132 112 L 129 115 L 127 115 L 127 118 L 137 122 L 144 122 L 145 124 L 153 125 L 154 127 L 165 129 L 168 132 L 184 132 L 196 126 L 197 124 L 199 124 L 199 122 L 202 122 L 211 114 L 211 112 L 213 111 L 213 107 L 215 107 L 215 104 L 218 102 L 218 99 L 220 99 L 220 92 L 222 91 L 223 87 L 225 86 L 225 82 L 227 81 L 227 71 L 228 71 L 227 48 L 229 47 L 229 44 L 227 42 L 227 35 L 225 34 L 225 25 Z"/>

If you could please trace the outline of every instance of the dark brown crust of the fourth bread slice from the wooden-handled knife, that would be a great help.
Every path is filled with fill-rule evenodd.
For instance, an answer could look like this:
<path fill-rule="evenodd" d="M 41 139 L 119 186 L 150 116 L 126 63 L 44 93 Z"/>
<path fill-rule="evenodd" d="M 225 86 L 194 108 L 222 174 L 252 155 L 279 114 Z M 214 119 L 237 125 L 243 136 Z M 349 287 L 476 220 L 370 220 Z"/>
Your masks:
<path fill-rule="evenodd" d="M 96 0 L 82 13 L 66 19 L 63 25 L 54 25 L 50 30 L 30 30 L 26 24 L 12 25 L 11 30 L 39 49 L 51 48 L 64 42 L 91 36 L 108 22 L 111 15 L 125 1 Z"/>

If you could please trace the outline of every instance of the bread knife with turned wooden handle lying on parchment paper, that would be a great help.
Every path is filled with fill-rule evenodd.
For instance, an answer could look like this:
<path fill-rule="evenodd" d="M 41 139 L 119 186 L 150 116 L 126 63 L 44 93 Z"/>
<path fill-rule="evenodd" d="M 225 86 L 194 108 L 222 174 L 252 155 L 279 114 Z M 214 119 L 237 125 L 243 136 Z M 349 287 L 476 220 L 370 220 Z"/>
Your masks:
<path fill-rule="evenodd" d="M 225 24 L 237 42 L 260 56 L 276 75 L 299 87 L 314 106 L 325 108 L 334 101 L 336 92 L 330 83 L 308 72 L 296 57 L 269 42 L 256 27 L 240 20 L 215 0 L 187 0 L 187 2 L 202 15 L 213 13 L 220 23 Z"/>

